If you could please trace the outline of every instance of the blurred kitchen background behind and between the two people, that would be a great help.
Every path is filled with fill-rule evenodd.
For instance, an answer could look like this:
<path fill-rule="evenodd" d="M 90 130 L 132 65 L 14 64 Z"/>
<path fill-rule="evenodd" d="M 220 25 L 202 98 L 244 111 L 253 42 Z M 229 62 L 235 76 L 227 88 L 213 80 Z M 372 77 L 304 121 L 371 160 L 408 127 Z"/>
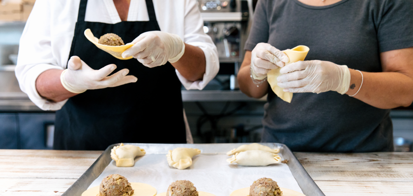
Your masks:
<path fill-rule="evenodd" d="M 256 1 L 198 0 L 204 31 L 218 49 L 220 71 L 203 91 L 182 87 L 183 105 L 195 143 L 261 139 L 266 97 L 248 98 L 236 83 Z M 34 2 L 0 1 L 0 148 L 53 147 L 55 113 L 36 107 L 20 90 L 14 74 L 20 36 Z M 395 150 L 413 151 L 413 106 L 393 109 L 390 115 Z"/>

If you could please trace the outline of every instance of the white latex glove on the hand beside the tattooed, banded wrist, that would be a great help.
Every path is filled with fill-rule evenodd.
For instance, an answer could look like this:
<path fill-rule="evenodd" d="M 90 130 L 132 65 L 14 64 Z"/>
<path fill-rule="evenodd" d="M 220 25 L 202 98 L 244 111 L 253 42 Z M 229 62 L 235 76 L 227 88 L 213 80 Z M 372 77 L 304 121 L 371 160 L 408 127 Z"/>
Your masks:
<path fill-rule="evenodd" d="M 281 68 L 278 86 L 291 93 L 323 93 L 336 91 L 341 95 L 349 90 L 350 70 L 345 65 L 329 61 L 298 61 Z"/>

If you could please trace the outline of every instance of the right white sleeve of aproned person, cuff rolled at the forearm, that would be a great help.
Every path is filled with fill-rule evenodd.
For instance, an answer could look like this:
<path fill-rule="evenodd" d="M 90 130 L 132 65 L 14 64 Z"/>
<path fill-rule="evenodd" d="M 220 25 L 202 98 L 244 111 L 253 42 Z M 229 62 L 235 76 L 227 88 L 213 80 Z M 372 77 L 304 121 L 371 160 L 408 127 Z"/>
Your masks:
<path fill-rule="evenodd" d="M 204 21 L 197 6 L 196 0 L 186 0 L 184 15 L 184 42 L 199 47 L 204 51 L 206 68 L 202 80 L 189 81 L 177 70 L 177 76 L 185 89 L 202 90 L 207 86 L 219 71 L 218 51 L 211 37 L 204 33 Z"/>

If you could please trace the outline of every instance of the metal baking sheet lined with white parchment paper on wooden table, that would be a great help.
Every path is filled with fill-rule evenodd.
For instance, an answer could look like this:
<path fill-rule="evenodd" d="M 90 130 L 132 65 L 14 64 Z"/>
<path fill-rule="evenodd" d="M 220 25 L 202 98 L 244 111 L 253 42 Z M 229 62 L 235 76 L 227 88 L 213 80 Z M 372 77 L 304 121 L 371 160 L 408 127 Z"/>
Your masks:
<path fill-rule="evenodd" d="M 307 196 L 324 196 L 288 147 L 276 143 L 261 144 L 280 148 L 280 156 L 289 159 L 289 164 L 242 167 L 227 163 L 226 159 L 229 156 L 226 152 L 243 144 L 131 144 L 144 148 L 147 154 L 136 158 L 134 167 L 118 168 L 110 159 L 110 149 L 114 146 L 111 145 L 85 172 L 89 174 L 79 178 L 78 181 L 87 183 L 86 186 L 77 181 L 64 195 L 80 195 L 88 187 L 98 186 L 103 177 L 118 173 L 130 182 L 147 183 L 155 187 L 158 193 L 166 192 L 168 186 L 176 180 L 190 180 L 198 191 L 209 192 L 216 196 L 229 196 L 237 189 L 250 186 L 258 178 L 269 177 L 277 181 L 279 186 L 299 193 L 304 192 Z M 190 168 L 177 170 L 169 167 L 166 160 L 168 150 L 176 147 L 198 148 L 201 149 L 201 154 L 193 158 Z"/>

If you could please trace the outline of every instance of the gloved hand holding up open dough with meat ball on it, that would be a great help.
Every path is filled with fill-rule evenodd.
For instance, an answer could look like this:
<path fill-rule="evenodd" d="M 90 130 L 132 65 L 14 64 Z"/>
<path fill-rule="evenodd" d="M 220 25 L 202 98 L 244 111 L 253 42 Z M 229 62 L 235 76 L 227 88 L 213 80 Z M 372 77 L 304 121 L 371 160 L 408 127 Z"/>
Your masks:
<path fill-rule="evenodd" d="M 185 44 L 178 35 L 162 31 L 148 31 L 131 42 L 134 46 L 122 53 L 123 58 L 133 56 L 149 68 L 175 63 L 182 57 Z"/>

